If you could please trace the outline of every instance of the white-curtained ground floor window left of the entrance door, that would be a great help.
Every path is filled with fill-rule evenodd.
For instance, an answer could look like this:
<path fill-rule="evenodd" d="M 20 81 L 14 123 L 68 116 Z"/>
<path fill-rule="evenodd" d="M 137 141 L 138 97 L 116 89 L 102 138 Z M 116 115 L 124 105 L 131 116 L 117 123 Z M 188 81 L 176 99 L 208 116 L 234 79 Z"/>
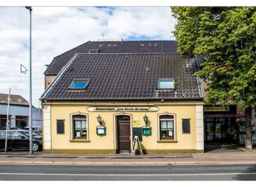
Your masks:
<path fill-rule="evenodd" d="M 87 139 L 86 115 L 73 115 L 73 137 Z"/>

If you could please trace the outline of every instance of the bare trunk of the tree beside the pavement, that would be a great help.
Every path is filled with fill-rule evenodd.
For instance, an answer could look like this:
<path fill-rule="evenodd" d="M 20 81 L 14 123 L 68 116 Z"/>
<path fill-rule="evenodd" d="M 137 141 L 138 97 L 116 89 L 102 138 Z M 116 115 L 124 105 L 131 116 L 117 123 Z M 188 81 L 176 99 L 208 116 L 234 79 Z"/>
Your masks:
<path fill-rule="evenodd" d="M 251 132 L 251 118 L 252 118 L 252 107 L 246 107 L 245 110 L 245 126 L 246 126 L 246 150 L 252 151 L 252 132 Z"/>

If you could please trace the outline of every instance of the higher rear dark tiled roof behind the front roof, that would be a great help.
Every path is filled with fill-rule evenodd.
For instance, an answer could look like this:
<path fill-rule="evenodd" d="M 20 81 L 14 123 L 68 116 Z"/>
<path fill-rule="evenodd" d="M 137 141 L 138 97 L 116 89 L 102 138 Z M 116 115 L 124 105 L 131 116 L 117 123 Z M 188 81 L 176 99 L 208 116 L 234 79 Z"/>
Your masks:
<path fill-rule="evenodd" d="M 44 74 L 57 75 L 72 56 L 88 53 L 90 49 L 99 49 L 99 53 L 176 53 L 177 44 L 175 41 L 88 41 L 55 56 Z"/>

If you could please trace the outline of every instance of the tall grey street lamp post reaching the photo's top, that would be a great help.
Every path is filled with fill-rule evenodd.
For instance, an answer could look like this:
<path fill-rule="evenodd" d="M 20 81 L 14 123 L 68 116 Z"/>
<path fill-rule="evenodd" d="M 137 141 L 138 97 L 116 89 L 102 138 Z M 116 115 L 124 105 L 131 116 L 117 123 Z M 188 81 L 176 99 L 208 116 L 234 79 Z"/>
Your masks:
<path fill-rule="evenodd" d="M 33 154 L 32 150 L 32 63 L 31 63 L 31 12 L 32 7 L 26 7 L 27 10 L 29 10 L 30 13 L 30 49 L 29 49 L 29 153 Z"/>

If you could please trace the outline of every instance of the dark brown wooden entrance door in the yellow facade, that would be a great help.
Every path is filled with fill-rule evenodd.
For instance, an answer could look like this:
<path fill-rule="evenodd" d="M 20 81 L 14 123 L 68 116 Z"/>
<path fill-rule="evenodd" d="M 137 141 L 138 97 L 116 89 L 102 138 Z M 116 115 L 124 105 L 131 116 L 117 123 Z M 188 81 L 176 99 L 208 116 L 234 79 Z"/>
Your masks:
<path fill-rule="evenodd" d="M 117 135 L 118 135 L 118 152 L 130 152 L 130 116 L 118 115 Z"/>

